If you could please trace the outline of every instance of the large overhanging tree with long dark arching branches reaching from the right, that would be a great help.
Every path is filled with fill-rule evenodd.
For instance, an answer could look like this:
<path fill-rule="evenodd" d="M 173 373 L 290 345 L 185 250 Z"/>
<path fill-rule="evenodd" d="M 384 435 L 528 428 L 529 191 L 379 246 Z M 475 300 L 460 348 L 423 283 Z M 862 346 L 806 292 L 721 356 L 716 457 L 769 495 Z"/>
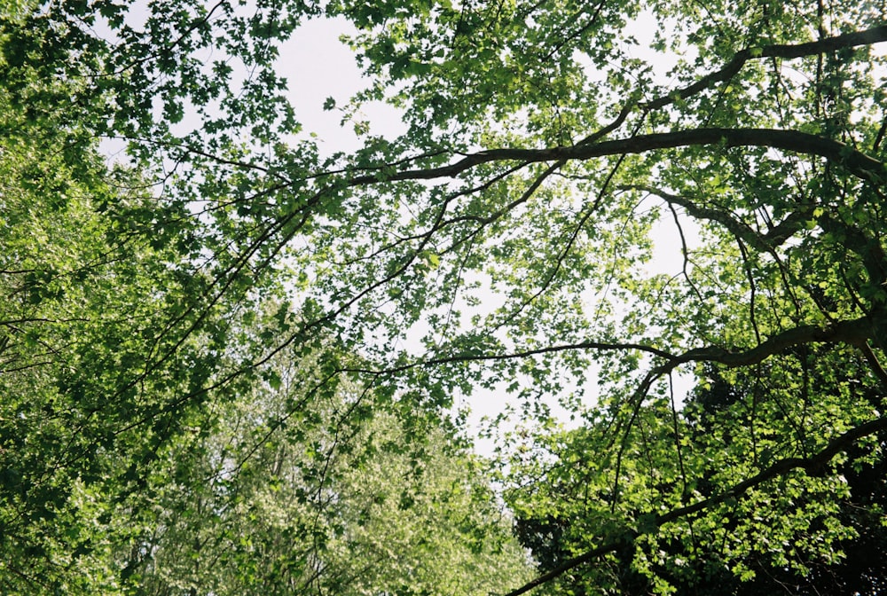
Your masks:
<path fill-rule="evenodd" d="M 144 219 L 124 219 L 143 241 L 146 228 L 169 230 L 161 248 L 176 253 L 158 259 L 158 285 L 127 286 L 159 300 L 138 303 L 160 324 L 145 325 L 156 333 L 132 345 L 140 358 L 121 379 L 100 365 L 104 380 L 86 386 L 114 396 L 105 407 L 119 415 L 85 444 L 130 428 L 120 388 L 145 381 L 138 395 L 154 405 L 132 428 L 156 429 L 158 449 L 274 355 L 306 357 L 334 338 L 327 395 L 347 378 L 407 421 L 494 388 L 538 417 L 526 440 L 515 435 L 529 474 L 515 482 L 529 488 L 512 502 L 583 523 L 571 558 L 513 594 L 622 553 L 668 592 L 680 563 L 656 560 L 655 545 L 692 542 L 699 526 L 734 545 L 715 564 L 741 579 L 750 548 L 813 520 L 828 524 L 805 553 L 839 557 L 852 523 L 838 519 L 835 466 L 875 453 L 887 427 L 883 3 L 177 0 L 144 19 L 102 0 L 17 6 L 2 13 L 4 117 L 124 137 L 138 175 L 164 183 L 136 211 Z M 295 136 L 274 71 L 278 43 L 320 13 L 357 27 L 369 83 L 342 108 L 364 142 L 353 155 L 321 157 Z M 650 20 L 667 27 L 639 39 Z M 377 99 L 404 110 L 404 136 L 360 121 Z M 682 263 L 673 275 L 650 266 L 667 250 L 651 238 L 660 222 Z M 162 300 L 177 270 L 189 281 Z M 223 341 L 256 294 L 275 293 L 294 304 L 279 333 Z M 848 360 L 853 378 L 839 374 Z M 703 380 L 706 365 L 731 382 L 765 375 L 773 390 L 745 427 L 718 419 L 710 435 L 727 443 L 691 449 L 668 380 Z M 167 370 L 201 372 L 169 383 Z M 834 390 L 817 393 L 814 376 Z M 585 438 L 561 444 L 546 430 L 544 396 L 584 421 Z M 67 412 L 54 400 L 43 400 L 51 420 Z M 586 460 L 589 498 L 606 506 L 534 498 L 556 462 Z M 123 469 L 142 490 L 145 471 Z M 784 524 L 720 515 L 753 512 Z M 594 581 L 608 586 L 607 574 Z"/>

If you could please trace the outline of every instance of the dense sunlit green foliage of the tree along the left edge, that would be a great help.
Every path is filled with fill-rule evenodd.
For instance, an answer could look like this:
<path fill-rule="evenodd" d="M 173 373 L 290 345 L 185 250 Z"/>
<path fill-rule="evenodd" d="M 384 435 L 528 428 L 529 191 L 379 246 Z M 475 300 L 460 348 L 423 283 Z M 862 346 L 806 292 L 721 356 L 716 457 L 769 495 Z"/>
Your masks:
<path fill-rule="evenodd" d="M 186 225 L 141 233 L 169 214 L 144 181 L 106 170 L 82 130 L 0 104 L 0 586 L 105 591 L 94 499 L 132 490 L 186 424 L 182 392 L 208 382 L 224 329 L 178 331 L 204 278 L 183 260 Z"/>

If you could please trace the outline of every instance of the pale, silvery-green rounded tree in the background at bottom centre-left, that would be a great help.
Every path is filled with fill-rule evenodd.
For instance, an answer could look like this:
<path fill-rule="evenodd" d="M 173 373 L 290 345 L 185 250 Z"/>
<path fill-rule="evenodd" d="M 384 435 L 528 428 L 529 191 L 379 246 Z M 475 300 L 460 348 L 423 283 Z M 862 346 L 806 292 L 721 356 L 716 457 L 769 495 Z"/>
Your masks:
<path fill-rule="evenodd" d="M 527 576 L 482 462 L 287 356 L 164 450 L 117 556 L 139 594 L 487 594 Z M 298 404 L 298 407 L 294 407 Z M 193 482 L 194 479 L 202 482 Z M 137 586 L 137 587 L 136 587 Z"/>

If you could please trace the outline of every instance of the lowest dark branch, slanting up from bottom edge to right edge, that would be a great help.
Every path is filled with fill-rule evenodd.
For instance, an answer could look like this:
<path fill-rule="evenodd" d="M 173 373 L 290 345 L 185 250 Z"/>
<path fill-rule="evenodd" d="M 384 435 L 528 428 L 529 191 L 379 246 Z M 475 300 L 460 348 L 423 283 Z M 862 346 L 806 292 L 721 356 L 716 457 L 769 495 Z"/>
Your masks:
<path fill-rule="evenodd" d="M 836 439 L 833 439 L 830 443 L 828 443 L 825 449 L 819 451 L 809 458 L 781 459 L 774 463 L 772 466 L 767 467 L 761 472 L 755 474 L 751 478 L 739 482 L 733 487 L 724 490 L 717 495 L 709 498 L 703 498 L 701 501 L 697 501 L 693 505 L 679 507 L 678 509 L 672 509 L 671 512 L 669 512 L 668 514 L 657 515 L 653 522 L 650 524 L 649 529 L 646 529 L 646 531 L 638 530 L 633 535 L 616 538 L 610 542 L 598 546 L 597 548 L 594 548 L 591 551 L 588 551 L 587 553 L 580 554 L 579 556 L 574 557 L 569 561 L 565 561 L 556 569 L 552 569 L 548 573 L 542 576 L 538 576 L 536 579 L 530 581 L 529 583 L 523 584 L 520 588 L 517 588 L 512 592 L 508 592 L 506 596 L 519 596 L 520 594 L 523 594 L 525 592 L 530 592 L 530 590 L 532 590 L 533 588 L 550 582 L 551 580 L 563 575 L 570 569 L 575 569 L 589 561 L 594 561 L 595 559 L 600 558 L 602 555 L 613 553 L 626 544 L 633 543 L 637 537 L 643 534 L 649 534 L 655 531 L 655 529 L 659 529 L 666 523 L 669 523 L 671 521 L 678 521 L 679 519 L 682 519 L 689 515 L 703 512 L 706 509 L 710 509 L 710 507 L 712 506 L 718 505 L 718 503 L 726 501 L 726 499 L 728 498 L 741 498 L 750 489 L 753 489 L 760 484 L 763 484 L 764 482 L 773 480 L 774 478 L 778 478 L 779 476 L 789 474 L 789 472 L 791 472 L 792 470 L 803 469 L 807 474 L 820 474 L 821 471 L 828 465 L 828 462 L 831 461 L 831 459 L 834 458 L 838 453 L 847 451 L 848 449 L 850 449 L 850 447 L 852 447 L 853 443 L 856 443 L 861 438 L 869 435 L 875 435 L 875 433 L 879 433 L 883 430 L 887 430 L 887 417 L 871 420 L 869 422 L 866 422 L 865 424 L 861 424 L 859 427 L 855 427 L 852 430 L 847 431 L 846 433 L 844 433 L 844 435 L 840 435 Z"/>

